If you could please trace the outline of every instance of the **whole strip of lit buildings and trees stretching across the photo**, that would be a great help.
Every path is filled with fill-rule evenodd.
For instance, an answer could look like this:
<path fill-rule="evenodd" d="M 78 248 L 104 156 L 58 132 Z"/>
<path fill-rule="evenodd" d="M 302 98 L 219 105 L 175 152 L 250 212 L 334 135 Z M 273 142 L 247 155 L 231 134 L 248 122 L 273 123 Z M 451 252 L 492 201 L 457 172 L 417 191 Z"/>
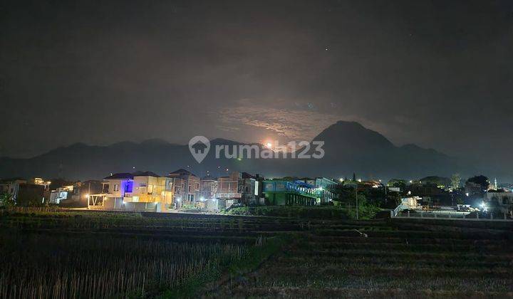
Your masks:
<path fill-rule="evenodd" d="M 10 194 L 17 205 L 58 204 L 128 211 L 170 211 L 208 209 L 218 211 L 231 206 L 355 204 L 358 196 L 380 207 L 394 208 L 402 199 L 413 198 L 424 207 L 481 206 L 480 210 L 513 214 L 513 192 L 509 185 L 499 187 L 484 176 L 467 179 L 424 177 L 418 180 L 316 178 L 264 178 L 247 172 L 227 172 L 199 177 L 187 169 L 165 175 L 155 172 L 110 174 L 103 180 L 54 182 L 41 179 L 2 179 L 0 194 Z M 458 209 L 460 209 L 458 207 Z"/>

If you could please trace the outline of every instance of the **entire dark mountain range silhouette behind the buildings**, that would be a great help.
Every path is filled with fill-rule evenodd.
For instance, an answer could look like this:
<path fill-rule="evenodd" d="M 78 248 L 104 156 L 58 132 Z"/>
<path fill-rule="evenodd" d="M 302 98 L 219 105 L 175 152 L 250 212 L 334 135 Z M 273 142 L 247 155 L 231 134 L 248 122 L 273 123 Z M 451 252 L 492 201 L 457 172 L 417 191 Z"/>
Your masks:
<path fill-rule="evenodd" d="M 131 172 L 133 167 L 167 174 L 187 166 L 199 176 L 209 171 L 214 177 L 226 175 L 226 169 L 271 177 L 338 178 L 350 177 L 356 172 L 358 176 L 374 179 L 408 179 L 435 174 L 449 177 L 455 172 L 465 172 L 452 157 L 416 145 L 397 147 L 383 135 L 358 122 L 336 122 L 314 140 L 325 142 L 323 159 L 215 159 L 216 145 L 244 145 L 215 139 L 211 141 L 209 154 L 201 164 L 192 158 L 188 145 L 176 145 L 165 140 L 118 142 L 108 146 L 77 143 L 29 159 L 0 158 L 0 177 L 100 179 L 111 172 Z"/>

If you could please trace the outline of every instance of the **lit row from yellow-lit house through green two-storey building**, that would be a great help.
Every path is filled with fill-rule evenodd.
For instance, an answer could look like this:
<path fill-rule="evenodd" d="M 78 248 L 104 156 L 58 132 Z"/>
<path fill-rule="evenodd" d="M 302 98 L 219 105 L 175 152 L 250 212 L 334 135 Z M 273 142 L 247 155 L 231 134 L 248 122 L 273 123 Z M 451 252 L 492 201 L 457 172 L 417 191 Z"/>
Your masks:
<path fill-rule="evenodd" d="M 88 194 L 88 209 L 168 211 L 177 208 L 224 209 L 241 205 L 326 204 L 334 194 L 326 179 L 264 179 L 259 174 L 232 172 L 223 177 L 199 177 L 186 169 L 165 176 L 154 172 L 111 174 L 102 192 Z"/>

